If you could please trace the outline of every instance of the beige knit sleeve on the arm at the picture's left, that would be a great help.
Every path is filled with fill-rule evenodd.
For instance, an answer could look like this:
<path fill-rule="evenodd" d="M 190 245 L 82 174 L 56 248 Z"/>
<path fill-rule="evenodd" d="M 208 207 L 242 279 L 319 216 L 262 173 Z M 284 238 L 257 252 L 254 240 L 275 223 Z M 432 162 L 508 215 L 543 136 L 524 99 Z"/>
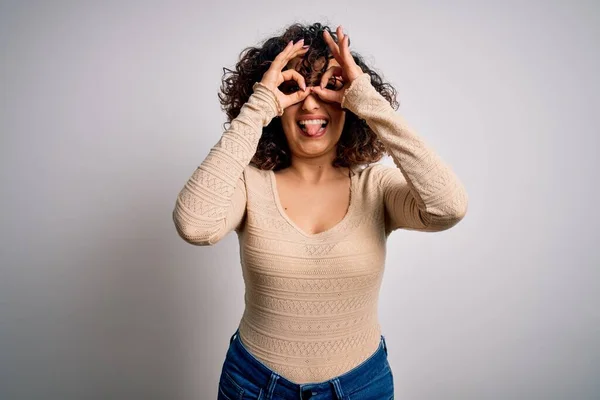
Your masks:
<path fill-rule="evenodd" d="M 244 169 L 256 153 L 262 128 L 283 110 L 268 88 L 253 93 L 177 196 L 173 221 L 188 243 L 213 245 L 238 229 L 246 210 Z"/>

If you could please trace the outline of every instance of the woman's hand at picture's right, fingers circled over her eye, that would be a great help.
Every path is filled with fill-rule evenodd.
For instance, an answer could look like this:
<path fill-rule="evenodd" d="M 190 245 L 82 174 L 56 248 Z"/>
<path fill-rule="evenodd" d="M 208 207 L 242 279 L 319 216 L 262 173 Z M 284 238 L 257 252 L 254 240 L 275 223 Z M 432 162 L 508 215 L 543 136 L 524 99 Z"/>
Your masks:
<path fill-rule="evenodd" d="M 323 31 L 323 39 L 331 49 L 337 63 L 332 63 L 332 66 L 325 71 L 321 77 L 321 86 L 311 86 L 311 91 L 325 101 L 341 103 L 344 93 L 352 81 L 363 74 L 363 70 L 356 64 L 352 54 L 350 54 L 350 39 L 348 35 L 344 34 L 341 25 L 337 27 L 336 33 L 339 45 L 327 31 Z M 342 78 L 343 87 L 341 89 L 331 90 L 325 87 L 332 77 Z"/>

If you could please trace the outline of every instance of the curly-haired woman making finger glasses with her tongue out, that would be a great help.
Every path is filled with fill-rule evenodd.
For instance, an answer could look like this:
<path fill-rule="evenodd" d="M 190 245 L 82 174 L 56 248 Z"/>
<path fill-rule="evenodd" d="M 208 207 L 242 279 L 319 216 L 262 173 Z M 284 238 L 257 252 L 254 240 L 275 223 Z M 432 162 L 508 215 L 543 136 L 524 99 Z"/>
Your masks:
<path fill-rule="evenodd" d="M 230 126 L 177 198 L 179 235 L 235 230 L 245 311 L 219 399 L 391 399 L 377 317 L 391 232 L 467 210 L 461 182 L 395 112 L 338 27 L 294 24 L 224 79 Z M 396 167 L 372 164 L 389 154 Z"/>

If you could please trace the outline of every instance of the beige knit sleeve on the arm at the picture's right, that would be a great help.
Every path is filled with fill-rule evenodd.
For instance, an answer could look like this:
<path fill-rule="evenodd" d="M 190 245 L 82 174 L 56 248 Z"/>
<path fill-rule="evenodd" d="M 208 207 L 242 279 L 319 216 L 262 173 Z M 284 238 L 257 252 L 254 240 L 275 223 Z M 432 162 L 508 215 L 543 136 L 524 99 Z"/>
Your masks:
<path fill-rule="evenodd" d="M 465 216 L 468 196 L 462 182 L 377 92 L 367 73 L 346 90 L 342 107 L 366 121 L 396 165 L 375 166 L 387 234 L 399 228 L 443 231 Z"/>

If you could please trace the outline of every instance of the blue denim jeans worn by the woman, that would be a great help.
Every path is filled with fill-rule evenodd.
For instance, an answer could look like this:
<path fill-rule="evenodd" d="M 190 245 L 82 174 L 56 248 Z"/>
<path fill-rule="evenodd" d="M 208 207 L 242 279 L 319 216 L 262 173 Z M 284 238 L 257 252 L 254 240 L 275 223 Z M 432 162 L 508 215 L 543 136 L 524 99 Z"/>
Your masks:
<path fill-rule="evenodd" d="M 379 348 L 350 371 L 328 381 L 294 383 L 255 358 L 239 338 L 239 329 L 229 349 L 219 379 L 217 400 L 392 400 L 394 380 L 387 360 L 387 345 L 381 335 Z"/>

